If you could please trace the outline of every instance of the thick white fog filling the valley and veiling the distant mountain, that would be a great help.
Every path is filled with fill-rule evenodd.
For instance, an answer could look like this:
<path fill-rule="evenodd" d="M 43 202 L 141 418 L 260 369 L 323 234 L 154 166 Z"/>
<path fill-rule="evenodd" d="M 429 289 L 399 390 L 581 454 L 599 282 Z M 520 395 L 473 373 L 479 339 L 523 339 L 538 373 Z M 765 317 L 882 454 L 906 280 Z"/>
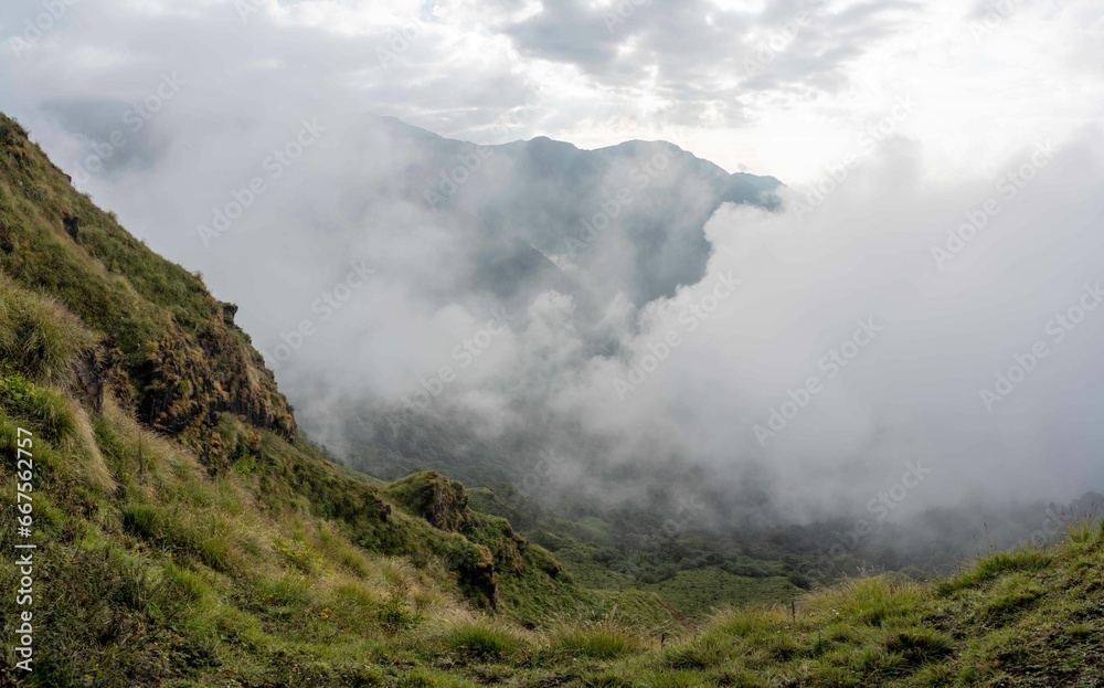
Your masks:
<path fill-rule="evenodd" d="M 535 138 L 561 96 L 488 72 L 479 147 L 379 116 L 415 72 L 364 76 L 376 43 L 223 9 L 74 7 L 81 35 L 126 40 L 6 55 L 0 107 L 241 306 L 342 461 L 599 505 L 659 489 L 720 523 L 1104 489 L 1097 128 L 938 174 L 894 130 L 776 187 L 662 114 L 681 148 Z M 458 89 L 433 102 L 459 117 Z"/>

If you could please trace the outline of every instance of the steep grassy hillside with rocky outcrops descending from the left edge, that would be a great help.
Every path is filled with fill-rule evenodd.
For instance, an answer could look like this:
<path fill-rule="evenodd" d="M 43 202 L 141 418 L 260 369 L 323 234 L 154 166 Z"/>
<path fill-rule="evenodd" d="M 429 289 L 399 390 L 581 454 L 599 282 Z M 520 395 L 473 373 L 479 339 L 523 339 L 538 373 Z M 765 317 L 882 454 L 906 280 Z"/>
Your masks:
<path fill-rule="evenodd" d="M 33 489 L 33 536 L 12 491 L 0 539 L 39 548 L 31 685 L 337 680 L 306 667 L 480 610 L 537 625 L 603 606 L 461 487 L 426 511 L 408 494 L 438 476 L 386 487 L 299 438 L 234 310 L 0 118 L 0 477 Z M 19 578 L 9 559 L 4 590 Z M 20 610 L 0 606 L 12 667 Z"/>

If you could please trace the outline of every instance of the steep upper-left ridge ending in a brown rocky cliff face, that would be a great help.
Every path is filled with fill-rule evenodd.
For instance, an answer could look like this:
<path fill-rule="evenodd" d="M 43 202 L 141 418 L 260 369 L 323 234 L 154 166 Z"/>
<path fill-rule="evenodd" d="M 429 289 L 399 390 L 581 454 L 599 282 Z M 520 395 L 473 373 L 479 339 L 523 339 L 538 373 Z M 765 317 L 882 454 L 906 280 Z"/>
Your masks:
<path fill-rule="evenodd" d="M 295 441 L 291 409 L 234 324 L 237 307 L 216 300 L 198 274 L 155 254 L 70 188 L 26 131 L 2 115 L 0 199 L 4 274 L 115 338 L 76 357 L 78 391 L 94 412 L 110 392 L 214 467 L 226 464 L 216 432 L 225 414 Z"/>

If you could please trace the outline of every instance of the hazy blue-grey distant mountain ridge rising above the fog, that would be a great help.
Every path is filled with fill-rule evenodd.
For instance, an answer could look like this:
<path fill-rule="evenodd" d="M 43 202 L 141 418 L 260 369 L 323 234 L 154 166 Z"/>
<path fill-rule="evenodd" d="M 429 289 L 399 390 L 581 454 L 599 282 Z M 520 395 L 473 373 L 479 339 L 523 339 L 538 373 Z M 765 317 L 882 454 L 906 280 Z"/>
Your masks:
<path fill-rule="evenodd" d="M 487 242 L 469 276 L 507 300 L 523 292 L 521 283 L 567 262 L 572 269 L 560 277 L 599 301 L 616 290 L 638 306 L 670 296 L 704 275 L 711 248 L 703 226 L 722 203 L 778 208 L 777 179 L 730 174 L 665 141 L 581 150 L 538 137 L 477 146 L 394 118 L 360 124 L 372 133 L 361 134 L 365 150 L 383 148 L 372 138 L 380 136 L 403 150 L 392 173 L 395 195 Z M 609 260 L 614 248 L 623 260 Z"/>

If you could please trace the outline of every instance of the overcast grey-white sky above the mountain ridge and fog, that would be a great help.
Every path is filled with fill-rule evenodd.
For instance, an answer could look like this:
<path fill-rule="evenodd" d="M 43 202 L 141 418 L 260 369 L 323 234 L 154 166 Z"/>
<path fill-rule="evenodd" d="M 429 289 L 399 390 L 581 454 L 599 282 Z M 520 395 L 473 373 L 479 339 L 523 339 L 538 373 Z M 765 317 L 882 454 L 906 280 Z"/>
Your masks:
<path fill-rule="evenodd" d="M 0 107 L 61 154 L 84 134 L 73 109 L 145 97 L 166 71 L 189 83 L 166 119 L 326 102 L 477 142 L 673 139 L 793 183 L 899 97 L 921 105 L 902 131 L 941 174 L 992 173 L 1104 107 L 1093 0 L 55 2 L 33 43 L 17 39 L 50 2 L 0 9 Z M 496 124 L 531 92 L 552 106 L 506 136 Z"/>

